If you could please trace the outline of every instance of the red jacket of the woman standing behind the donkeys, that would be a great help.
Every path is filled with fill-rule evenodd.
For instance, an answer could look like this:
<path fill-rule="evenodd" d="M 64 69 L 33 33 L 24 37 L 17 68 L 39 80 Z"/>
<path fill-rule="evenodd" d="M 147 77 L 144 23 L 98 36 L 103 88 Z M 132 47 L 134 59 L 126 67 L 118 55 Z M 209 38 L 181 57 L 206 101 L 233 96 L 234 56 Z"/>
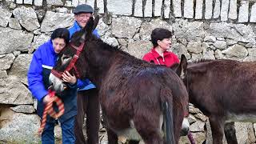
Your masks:
<path fill-rule="evenodd" d="M 157 65 L 164 65 L 164 66 L 172 66 L 174 63 L 179 63 L 179 59 L 177 55 L 170 51 L 163 52 L 163 58 L 161 55 L 158 54 L 154 48 L 150 52 L 144 55 L 142 58 L 146 62 L 154 62 Z"/>

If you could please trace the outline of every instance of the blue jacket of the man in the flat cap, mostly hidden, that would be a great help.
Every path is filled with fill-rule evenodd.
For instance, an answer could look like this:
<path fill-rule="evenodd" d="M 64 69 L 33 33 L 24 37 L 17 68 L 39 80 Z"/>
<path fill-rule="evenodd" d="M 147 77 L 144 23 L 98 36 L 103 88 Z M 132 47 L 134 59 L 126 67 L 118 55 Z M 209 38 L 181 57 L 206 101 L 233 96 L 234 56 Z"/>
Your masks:
<path fill-rule="evenodd" d="M 72 27 L 70 27 L 69 31 L 70 31 L 70 38 L 71 36 L 78 30 L 81 30 L 81 26 L 78 25 L 78 22 L 74 22 L 74 25 Z M 94 30 L 93 34 L 99 38 L 99 34 L 98 34 L 98 30 Z M 90 80 L 87 78 L 85 80 L 80 80 L 78 79 L 78 90 L 90 90 L 90 89 L 94 89 L 96 88 L 96 86 L 94 86 L 94 84 L 92 82 L 90 82 Z"/>

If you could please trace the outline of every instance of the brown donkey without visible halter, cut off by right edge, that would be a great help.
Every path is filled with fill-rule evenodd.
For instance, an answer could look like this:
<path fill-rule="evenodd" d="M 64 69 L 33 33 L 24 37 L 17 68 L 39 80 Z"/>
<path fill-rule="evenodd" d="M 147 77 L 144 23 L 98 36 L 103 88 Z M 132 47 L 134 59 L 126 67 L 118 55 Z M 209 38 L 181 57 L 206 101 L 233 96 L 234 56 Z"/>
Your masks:
<path fill-rule="evenodd" d="M 183 55 L 181 63 L 186 68 Z M 256 122 L 256 62 L 228 59 L 188 63 L 183 82 L 190 102 L 209 117 L 213 143 L 236 144 L 234 122 Z"/>

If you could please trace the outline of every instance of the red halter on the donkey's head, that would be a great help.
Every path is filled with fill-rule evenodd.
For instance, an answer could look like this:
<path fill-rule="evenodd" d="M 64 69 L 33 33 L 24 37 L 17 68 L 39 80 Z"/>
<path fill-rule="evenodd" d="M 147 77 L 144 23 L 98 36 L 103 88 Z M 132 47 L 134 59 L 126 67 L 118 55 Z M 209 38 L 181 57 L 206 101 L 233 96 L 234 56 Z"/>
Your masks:
<path fill-rule="evenodd" d="M 77 78 L 79 78 L 79 73 L 78 73 L 78 68 L 77 66 L 74 66 L 75 62 L 77 62 L 79 55 L 81 54 L 82 50 L 83 50 L 83 46 L 85 46 L 85 42 L 82 42 L 82 44 L 80 46 L 74 46 L 72 43 L 70 43 L 70 46 L 73 47 L 75 50 L 77 50 L 76 54 L 74 54 L 73 58 L 71 59 L 70 64 L 66 67 L 66 69 L 63 72 L 57 71 L 52 69 L 51 73 L 54 74 L 54 76 L 56 76 L 57 78 L 62 79 L 62 74 L 65 71 L 70 71 L 72 68 L 74 68 L 75 71 L 75 76 Z"/>

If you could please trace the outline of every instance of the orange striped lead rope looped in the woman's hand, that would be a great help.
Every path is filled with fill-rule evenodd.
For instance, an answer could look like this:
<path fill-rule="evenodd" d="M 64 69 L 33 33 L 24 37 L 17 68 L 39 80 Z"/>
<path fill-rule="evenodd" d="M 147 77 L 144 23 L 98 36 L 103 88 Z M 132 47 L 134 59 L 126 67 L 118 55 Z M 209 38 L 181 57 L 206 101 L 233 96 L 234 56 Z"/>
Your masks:
<path fill-rule="evenodd" d="M 58 98 L 57 96 L 55 96 L 55 92 L 54 91 L 51 91 L 49 90 L 48 91 L 49 94 L 50 94 L 50 98 L 52 98 L 52 101 L 51 102 L 48 102 L 46 104 L 46 107 L 45 109 L 43 110 L 43 113 L 42 113 L 42 121 L 41 121 L 41 126 L 38 130 L 38 134 L 41 135 L 45 126 L 46 126 L 46 118 L 47 118 L 47 114 L 50 115 L 50 117 L 52 118 L 59 118 L 60 116 L 62 116 L 62 114 L 64 114 L 64 103 L 62 102 L 62 100 L 60 98 Z M 56 113 L 54 111 L 54 102 L 56 102 L 57 106 L 58 106 L 58 113 Z"/>

